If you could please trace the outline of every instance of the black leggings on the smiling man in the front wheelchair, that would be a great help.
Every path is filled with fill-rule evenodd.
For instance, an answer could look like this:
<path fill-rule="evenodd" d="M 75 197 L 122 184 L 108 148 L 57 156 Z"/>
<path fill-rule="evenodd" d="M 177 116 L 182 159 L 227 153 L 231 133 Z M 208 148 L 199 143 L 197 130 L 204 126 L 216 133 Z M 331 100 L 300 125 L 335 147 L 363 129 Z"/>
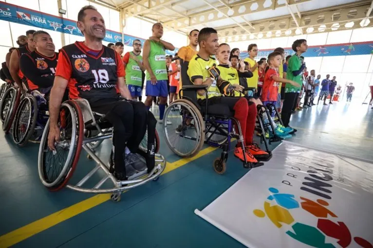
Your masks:
<path fill-rule="evenodd" d="M 142 102 L 117 100 L 101 105 L 95 104 L 92 110 L 106 114 L 105 119 L 113 125 L 115 171 L 126 173 L 124 150 L 127 146 L 131 153 L 137 152 L 147 130 L 148 109 Z"/>

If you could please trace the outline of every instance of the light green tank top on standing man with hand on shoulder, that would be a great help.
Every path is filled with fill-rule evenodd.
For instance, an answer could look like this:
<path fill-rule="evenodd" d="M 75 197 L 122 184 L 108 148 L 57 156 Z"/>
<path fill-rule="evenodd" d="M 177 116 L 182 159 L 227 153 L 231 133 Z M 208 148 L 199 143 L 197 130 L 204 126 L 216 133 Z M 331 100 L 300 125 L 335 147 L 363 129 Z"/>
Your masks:
<path fill-rule="evenodd" d="M 157 80 L 167 80 L 166 51 L 160 42 L 150 41 L 149 64 Z M 150 74 L 147 72 L 147 81 Z"/>

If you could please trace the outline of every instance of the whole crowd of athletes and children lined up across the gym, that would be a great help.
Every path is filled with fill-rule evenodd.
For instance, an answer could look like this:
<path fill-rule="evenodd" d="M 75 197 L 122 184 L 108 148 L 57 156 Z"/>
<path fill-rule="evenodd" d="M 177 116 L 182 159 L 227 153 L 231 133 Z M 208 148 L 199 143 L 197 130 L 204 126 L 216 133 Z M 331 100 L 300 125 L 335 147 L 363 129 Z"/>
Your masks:
<path fill-rule="evenodd" d="M 273 116 L 263 115 L 263 121 L 272 122 L 275 130 L 270 131 L 288 138 L 297 131 L 289 126 L 289 122 L 291 114 L 301 108 L 299 101 L 303 92 L 303 108 L 315 105 L 320 87 L 318 101 L 324 97 L 326 104 L 330 94 L 329 103 L 332 104 L 336 77 L 329 80 L 327 75 L 320 85 L 320 75 L 316 77 L 314 70 L 308 74 L 301 56 L 308 48 L 305 39 L 294 41 L 292 56 L 285 57 L 284 49 L 276 48 L 268 58 L 257 62 L 259 50 L 256 44 L 250 44 L 249 57 L 241 59 L 239 49 L 231 49 L 226 43 L 219 44 L 217 31 L 204 28 L 192 30 L 188 46 L 180 48 L 172 57 L 166 56 L 166 50 L 173 51 L 175 47 L 162 39 L 163 26 L 155 23 L 152 36 L 143 47 L 141 41 L 135 39 L 133 50 L 122 56 L 123 43 L 102 44 L 105 21 L 93 6 L 83 7 L 77 19 L 84 41 L 64 46 L 56 53 L 47 32 L 29 30 L 26 35 L 19 36 L 19 48 L 9 50 L 2 63 L 1 75 L 15 87 L 25 92 L 38 90 L 47 99 L 50 113 L 48 145 L 52 150 L 55 141 L 59 140 L 57 119 L 63 101 L 85 98 L 93 111 L 105 114 L 114 127 L 111 166 L 118 179 L 125 178 L 125 164 L 133 163 L 135 167 L 136 149 L 145 135 L 147 120 L 154 118 L 150 106 L 158 105 L 158 122 L 162 123 L 167 104 L 178 98 L 182 84 L 180 59 L 189 62 L 189 80 L 207 87 L 207 95 L 204 90 L 196 93 L 201 106 L 208 98 L 208 105 L 234 112 L 243 136 L 234 155 L 241 160 L 246 158 L 255 163 L 261 156 L 268 155 L 253 142 L 258 105 L 278 107 L 283 125 L 276 125 Z M 144 81 L 146 99 L 142 103 Z M 245 95 L 245 88 L 254 88 L 254 93 Z M 352 92 L 348 95 L 350 101 Z M 127 100 L 123 101 L 123 98 Z"/>

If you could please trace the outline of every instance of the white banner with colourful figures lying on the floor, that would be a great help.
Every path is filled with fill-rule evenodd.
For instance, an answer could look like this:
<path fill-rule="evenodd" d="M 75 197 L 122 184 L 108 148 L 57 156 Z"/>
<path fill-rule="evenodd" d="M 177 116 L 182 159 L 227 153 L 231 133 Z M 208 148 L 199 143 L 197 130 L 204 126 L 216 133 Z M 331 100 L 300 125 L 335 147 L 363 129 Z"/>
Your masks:
<path fill-rule="evenodd" d="M 250 248 L 372 248 L 373 164 L 283 142 L 199 216 Z"/>

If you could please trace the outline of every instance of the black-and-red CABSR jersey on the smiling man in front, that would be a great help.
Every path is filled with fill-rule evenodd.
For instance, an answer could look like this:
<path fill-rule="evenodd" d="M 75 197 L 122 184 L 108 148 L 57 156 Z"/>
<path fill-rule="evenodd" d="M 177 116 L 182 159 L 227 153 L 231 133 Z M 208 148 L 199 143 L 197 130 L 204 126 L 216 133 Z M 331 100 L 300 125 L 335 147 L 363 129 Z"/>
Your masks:
<path fill-rule="evenodd" d="M 124 67 L 114 50 L 102 46 L 94 51 L 77 41 L 60 50 L 56 76 L 69 80 L 70 99 L 84 98 L 94 105 L 101 99 L 117 99 L 115 86 Z"/>

